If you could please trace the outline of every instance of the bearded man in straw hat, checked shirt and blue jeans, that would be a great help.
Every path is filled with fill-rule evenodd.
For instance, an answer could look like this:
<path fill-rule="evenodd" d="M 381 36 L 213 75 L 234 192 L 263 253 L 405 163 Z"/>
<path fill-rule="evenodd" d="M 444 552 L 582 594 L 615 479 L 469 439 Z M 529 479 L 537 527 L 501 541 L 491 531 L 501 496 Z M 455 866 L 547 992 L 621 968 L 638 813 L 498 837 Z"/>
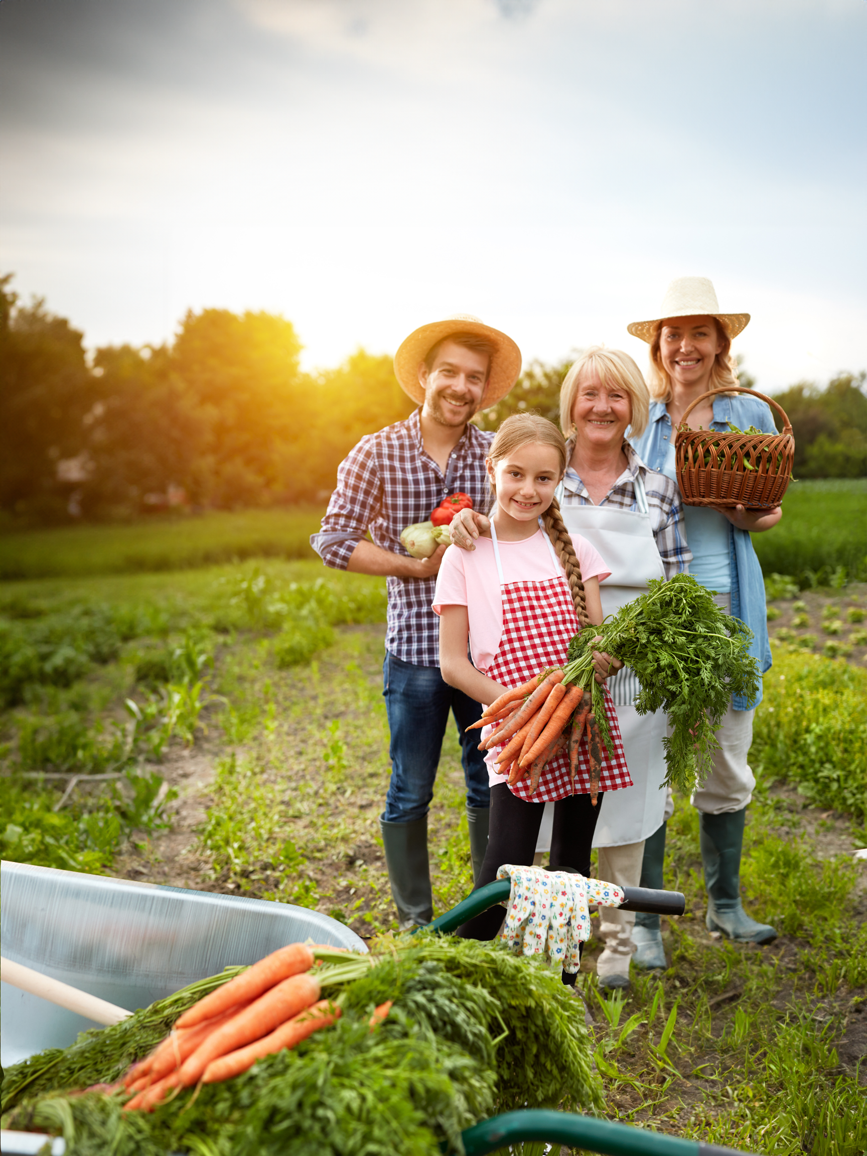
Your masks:
<path fill-rule="evenodd" d="M 394 372 L 420 408 L 363 437 L 343 459 L 321 531 L 310 540 L 327 566 L 387 579 L 383 694 L 392 773 L 380 828 L 401 929 L 432 918 L 428 809 L 450 711 L 461 743 L 474 875 L 488 842 L 490 792 L 477 736 L 466 734 L 481 706 L 439 674 L 439 620 L 431 603 L 445 547 L 414 558 L 400 533 L 427 521 L 455 491 L 467 494 L 474 509 L 483 504 L 484 458 L 494 435 L 469 418 L 504 398 L 520 368 L 512 339 L 475 317 L 451 317 L 410 333 L 394 356 Z"/>

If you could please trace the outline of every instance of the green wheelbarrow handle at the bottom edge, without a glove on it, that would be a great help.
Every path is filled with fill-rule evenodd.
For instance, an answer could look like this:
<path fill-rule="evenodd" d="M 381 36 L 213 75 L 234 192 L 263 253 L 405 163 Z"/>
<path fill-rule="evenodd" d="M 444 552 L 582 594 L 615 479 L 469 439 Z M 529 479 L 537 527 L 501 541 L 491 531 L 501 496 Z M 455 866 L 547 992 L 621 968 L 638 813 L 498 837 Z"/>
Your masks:
<path fill-rule="evenodd" d="M 583 1148 L 602 1156 L 744 1156 L 734 1148 L 719 1148 L 696 1140 L 682 1140 L 665 1132 L 636 1128 L 630 1124 L 599 1120 L 592 1116 L 531 1107 L 504 1112 L 467 1128 L 462 1134 L 467 1156 L 506 1148 L 521 1140 Z"/>

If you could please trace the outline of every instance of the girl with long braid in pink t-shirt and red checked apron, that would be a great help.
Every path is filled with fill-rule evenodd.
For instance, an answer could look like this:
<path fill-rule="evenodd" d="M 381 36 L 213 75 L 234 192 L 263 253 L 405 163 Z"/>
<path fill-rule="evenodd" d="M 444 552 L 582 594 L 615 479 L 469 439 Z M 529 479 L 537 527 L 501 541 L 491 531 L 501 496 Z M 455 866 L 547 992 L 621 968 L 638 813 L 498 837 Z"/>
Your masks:
<path fill-rule="evenodd" d="M 506 418 L 486 465 L 496 497 L 490 533 L 479 538 L 472 551 L 449 547 L 433 609 L 440 616 L 443 677 L 470 698 L 492 703 L 546 667 L 562 666 L 579 623 L 602 621 L 599 580 L 609 571 L 593 547 L 581 538 L 573 543 L 563 525 L 554 491 L 565 472 L 566 446 L 556 425 L 531 414 Z M 598 677 L 603 681 L 602 674 Z M 607 690 L 605 695 L 615 757 L 603 749 L 600 805 L 602 792 L 632 785 L 617 716 Z M 486 727 L 482 738 L 490 729 Z M 492 882 L 502 864 L 533 862 L 544 803 L 551 800 L 556 802 L 551 868 L 572 867 L 588 875 L 599 806 L 591 803 L 586 738 L 575 787 L 563 753 L 544 766 L 532 796 L 528 779 L 509 786 L 496 769 L 501 750 L 495 747 L 487 755 L 490 825 L 476 888 Z M 465 924 L 459 934 L 492 939 L 502 919 L 502 910 L 494 907 Z"/>

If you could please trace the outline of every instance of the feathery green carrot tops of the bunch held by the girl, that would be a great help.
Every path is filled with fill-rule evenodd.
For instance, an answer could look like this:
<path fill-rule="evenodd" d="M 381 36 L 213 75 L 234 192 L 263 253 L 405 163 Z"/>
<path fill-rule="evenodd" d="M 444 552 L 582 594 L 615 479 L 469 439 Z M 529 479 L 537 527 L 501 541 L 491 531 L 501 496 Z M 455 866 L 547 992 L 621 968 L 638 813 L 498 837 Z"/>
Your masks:
<path fill-rule="evenodd" d="M 689 575 L 654 578 L 647 587 L 601 627 L 586 627 L 572 638 L 563 682 L 596 686 L 594 650 L 630 666 L 642 688 L 635 699 L 638 713 L 664 710 L 672 725 L 670 738 L 664 739 L 666 783 L 689 794 L 710 772 L 719 748 L 716 731 L 732 695 L 750 701 L 758 692 L 758 666 L 748 652 L 753 633 L 724 614 L 713 594 Z M 608 744 L 601 695 L 599 699 L 596 722 Z"/>

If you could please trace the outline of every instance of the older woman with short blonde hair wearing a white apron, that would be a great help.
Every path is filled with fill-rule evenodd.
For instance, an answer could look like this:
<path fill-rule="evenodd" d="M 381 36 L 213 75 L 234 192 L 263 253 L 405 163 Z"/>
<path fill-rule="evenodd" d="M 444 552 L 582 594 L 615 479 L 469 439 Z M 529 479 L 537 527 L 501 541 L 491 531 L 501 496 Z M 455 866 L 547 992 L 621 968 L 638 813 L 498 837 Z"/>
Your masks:
<path fill-rule="evenodd" d="M 569 458 L 558 495 L 561 513 L 569 533 L 591 542 L 612 571 L 599 585 L 606 615 L 642 594 L 649 579 L 684 571 L 691 557 L 677 487 L 649 469 L 627 440 L 628 429 L 635 436 L 644 432 L 649 406 L 647 386 L 629 354 L 600 346 L 577 358 L 561 388 L 561 425 Z M 487 519 L 465 511 L 452 523 L 452 541 L 472 549 L 480 528 L 487 528 Z M 610 676 L 608 687 L 633 784 L 602 802 L 593 839 L 599 876 L 635 887 L 645 837 L 665 818 L 666 719 L 639 717 L 632 706 L 638 692 L 635 674 L 608 654 L 594 658 L 598 680 Z M 596 971 L 603 987 L 629 984 L 633 922 L 630 912 L 602 909 L 605 950 Z"/>

